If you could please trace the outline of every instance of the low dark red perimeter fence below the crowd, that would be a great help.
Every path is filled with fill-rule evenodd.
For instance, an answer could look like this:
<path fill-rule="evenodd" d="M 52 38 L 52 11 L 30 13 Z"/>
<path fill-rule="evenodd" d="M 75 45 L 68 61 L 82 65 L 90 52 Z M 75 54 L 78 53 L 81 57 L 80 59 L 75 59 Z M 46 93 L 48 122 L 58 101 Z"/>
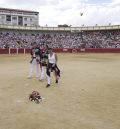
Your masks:
<path fill-rule="evenodd" d="M 31 49 L 0 49 L 0 54 L 28 54 Z M 53 49 L 56 53 L 120 53 L 120 48 Z"/>

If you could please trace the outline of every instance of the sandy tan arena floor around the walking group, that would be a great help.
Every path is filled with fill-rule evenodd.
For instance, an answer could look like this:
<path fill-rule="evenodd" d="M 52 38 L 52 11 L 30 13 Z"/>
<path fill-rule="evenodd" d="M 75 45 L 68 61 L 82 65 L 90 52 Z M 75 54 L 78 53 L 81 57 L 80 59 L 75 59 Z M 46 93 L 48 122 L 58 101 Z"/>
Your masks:
<path fill-rule="evenodd" d="M 0 55 L 0 129 L 120 129 L 120 54 L 58 57 L 60 83 L 46 88 L 27 79 L 30 55 Z"/>

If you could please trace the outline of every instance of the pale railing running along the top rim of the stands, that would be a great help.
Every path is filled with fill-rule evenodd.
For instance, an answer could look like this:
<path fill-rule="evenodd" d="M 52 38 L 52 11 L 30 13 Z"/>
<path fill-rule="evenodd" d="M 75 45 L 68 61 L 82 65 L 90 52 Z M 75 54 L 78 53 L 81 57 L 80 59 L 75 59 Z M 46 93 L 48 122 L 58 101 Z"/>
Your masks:
<path fill-rule="evenodd" d="M 3 29 L 19 29 L 19 30 L 39 30 L 39 31 L 87 31 L 87 30 L 115 30 L 120 29 L 120 25 L 109 26 L 83 26 L 83 27 L 41 27 L 41 26 L 13 26 L 0 24 Z"/>

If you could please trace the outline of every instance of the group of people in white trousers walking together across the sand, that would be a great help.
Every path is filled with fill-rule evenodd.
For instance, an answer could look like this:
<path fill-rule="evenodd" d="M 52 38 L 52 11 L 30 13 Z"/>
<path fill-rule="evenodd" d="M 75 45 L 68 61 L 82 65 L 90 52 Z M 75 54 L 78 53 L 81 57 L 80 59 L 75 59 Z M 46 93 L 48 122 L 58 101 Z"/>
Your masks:
<path fill-rule="evenodd" d="M 51 84 L 51 72 L 54 73 L 55 82 L 58 83 L 60 77 L 60 70 L 57 66 L 57 55 L 53 52 L 52 48 L 46 46 L 44 49 L 34 42 L 31 49 L 31 67 L 28 78 L 32 78 L 34 68 L 36 67 L 36 77 L 43 81 L 47 77 L 47 85 Z"/>

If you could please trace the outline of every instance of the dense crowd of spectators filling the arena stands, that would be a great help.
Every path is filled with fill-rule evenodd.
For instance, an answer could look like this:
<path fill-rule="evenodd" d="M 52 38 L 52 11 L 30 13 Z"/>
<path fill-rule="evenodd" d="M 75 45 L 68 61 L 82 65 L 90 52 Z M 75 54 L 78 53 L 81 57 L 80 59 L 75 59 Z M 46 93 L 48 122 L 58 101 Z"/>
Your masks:
<path fill-rule="evenodd" d="M 120 48 L 120 30 L 84 32 L 0 31 L 0 48 Z"/>

